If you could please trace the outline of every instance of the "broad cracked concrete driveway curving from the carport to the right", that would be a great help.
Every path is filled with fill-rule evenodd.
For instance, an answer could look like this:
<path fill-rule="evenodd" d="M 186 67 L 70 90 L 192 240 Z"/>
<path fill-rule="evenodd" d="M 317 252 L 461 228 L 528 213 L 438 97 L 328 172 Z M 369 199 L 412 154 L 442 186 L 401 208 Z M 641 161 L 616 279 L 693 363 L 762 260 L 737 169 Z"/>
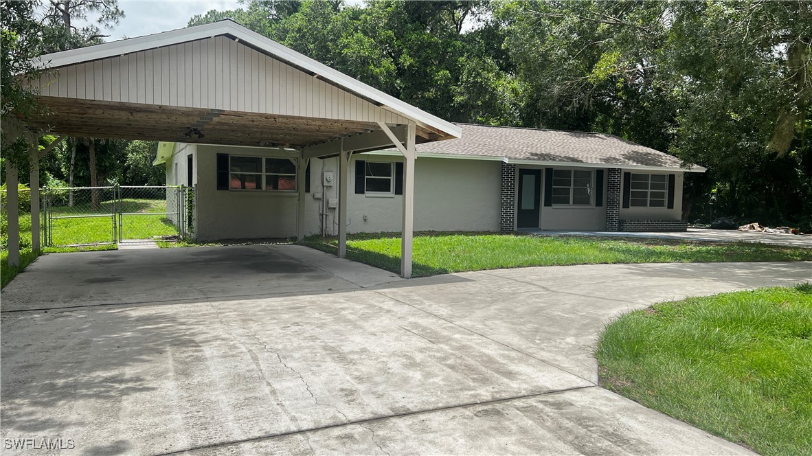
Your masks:
<path fill-rule="evenodd" d="M 622 312 L 810 281 L 812 264 L 392 276 L 296 246 L 45 256 L 2 293 L 2 437 L 71 454 L 746 454 L 596 386 L 592 346 Z"/>

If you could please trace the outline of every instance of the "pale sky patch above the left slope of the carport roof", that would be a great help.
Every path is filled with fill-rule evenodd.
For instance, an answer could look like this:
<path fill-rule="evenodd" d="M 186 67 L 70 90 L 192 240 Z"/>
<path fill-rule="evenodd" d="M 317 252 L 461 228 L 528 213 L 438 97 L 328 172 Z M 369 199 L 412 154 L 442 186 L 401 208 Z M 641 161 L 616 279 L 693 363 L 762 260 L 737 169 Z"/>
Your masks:
<path fill-rule="evenodd" d="M 141 37 L 184 28 L 193 15 L 209 10 L 235 10 L 241 6 L 236 0 L 119 0 L 124 18 L 112 31 L 102 28 L 102 32 L 110 34 L 105 41 Z"/>

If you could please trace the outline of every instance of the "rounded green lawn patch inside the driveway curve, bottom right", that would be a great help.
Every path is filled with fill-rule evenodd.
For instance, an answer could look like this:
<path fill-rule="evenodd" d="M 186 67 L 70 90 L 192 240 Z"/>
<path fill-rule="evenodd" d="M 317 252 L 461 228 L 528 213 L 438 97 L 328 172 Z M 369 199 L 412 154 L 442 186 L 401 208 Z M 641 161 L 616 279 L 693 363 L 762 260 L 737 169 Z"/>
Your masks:
<path fill-rule="evenodd" d="M 812 283 L 655 304 L 607 325 L 601 385 L 761 454 L 812 454 Z"/>

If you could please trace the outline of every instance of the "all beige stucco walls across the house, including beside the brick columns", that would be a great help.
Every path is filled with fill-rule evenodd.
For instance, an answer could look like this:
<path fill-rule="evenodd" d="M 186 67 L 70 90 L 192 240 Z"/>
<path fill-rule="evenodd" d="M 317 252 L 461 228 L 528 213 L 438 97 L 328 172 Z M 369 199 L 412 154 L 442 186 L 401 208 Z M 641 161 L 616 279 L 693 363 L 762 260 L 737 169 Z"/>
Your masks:
<path fill-rule="evenodd" d="M 187 184 L 187 157 L 192 154 L 197 185 L 197 236 L 201 240 L 241 238 L 287 238 L 296 236 L 296 191 L 218 191 L 216 157 L 228 153 L 246 157 L 287 157 L 296 161 L 296 152 L 274 148 L 241 148 L 203 144 L 176 144 L 166 161 L 170 185 Z M 356 161 L 397 162 L 391 154 L 354 154 L 349 164 L 348 232 L 397 232 L 401 229 L 403 196 L 356 194 Z M 310 163 L 309 191 L 304 193 L 304 234 L 338 233 L 338 211 L 330 200 L 339 199 L 339 160 L 313 158 Z M 415 230 L 499 231 L 501 161 L 449 157 L 420 157 L 415 172 Z M 517 166 L 543 170 L 549 166 Z M 583 167 L 556 166 L 555 169 L 583 170 Z M 641 172 L 622 170 L 624 172 Z M 655 171 L 646 171 L 657 174 Z M 323 185 L 323 174 L 332 173 L 334 185 Z M 660 174 L 669 174 L 663 172 Z M 682 173 L 675 174 L 674 207 L 620 209 L 623 220 L 680 220 L 682 213 Z M 607 169 L 603 173 L 603 196 L 607 195 Z M 518 192 L 516 186 L 516 192 Z M 606 207 L 544 206 L 545 186 L 538 227 L 542 230 L 605 230 Z M 516 201 L 518 194 L 516 195 Z M 334 205 L 334 207 L 329 207 Z"/>

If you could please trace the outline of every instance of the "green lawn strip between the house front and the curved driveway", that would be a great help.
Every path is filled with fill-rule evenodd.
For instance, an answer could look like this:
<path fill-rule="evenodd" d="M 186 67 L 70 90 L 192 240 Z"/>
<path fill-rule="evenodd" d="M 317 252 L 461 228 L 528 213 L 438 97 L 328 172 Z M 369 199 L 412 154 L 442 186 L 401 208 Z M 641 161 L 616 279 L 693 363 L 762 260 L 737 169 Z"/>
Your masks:
<path fill-rule="evenodd" d="M 309 237 L 304 245 L 335 253 L 338 239 Z M 354 234 L 350 260 L 400 273 L 397 234 Z M 483 269 L 600 263 L 812 260 L 812 249 L 760 243 L 708 244 L 664 239 L 546 237 L 520 234 L 415 234 L 412 275 L 425 277 Z"/>

